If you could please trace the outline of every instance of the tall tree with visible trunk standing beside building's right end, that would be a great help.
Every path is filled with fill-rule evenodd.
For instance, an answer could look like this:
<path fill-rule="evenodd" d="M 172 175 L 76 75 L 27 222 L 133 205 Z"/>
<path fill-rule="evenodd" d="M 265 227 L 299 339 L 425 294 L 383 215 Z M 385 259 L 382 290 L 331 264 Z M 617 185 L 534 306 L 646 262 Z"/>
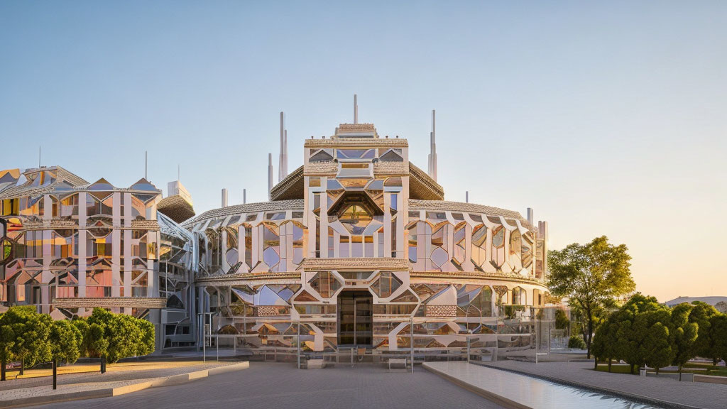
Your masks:
<path fill-rule="evenodd" d="M 582 311 L 587 357 L 606 304 L 635 289 L 626 245 L 614 246 L 606 236 L 586 245 L 573 243 L 563 250 L 548 253 L 549 287 L 553 295 L 567 297 L 569 304 Z"/>

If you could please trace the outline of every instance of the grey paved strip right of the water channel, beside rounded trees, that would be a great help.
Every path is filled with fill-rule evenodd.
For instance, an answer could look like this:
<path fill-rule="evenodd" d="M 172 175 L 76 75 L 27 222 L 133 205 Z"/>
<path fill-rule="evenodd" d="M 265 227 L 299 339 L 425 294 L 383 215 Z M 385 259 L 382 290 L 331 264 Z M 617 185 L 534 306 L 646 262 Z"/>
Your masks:
<path fill-rule="evenodd" d="M 597 372 L 593 370 L 593 362 L 534 364 L 532 362 L 499 361 L 489 365 L 696 408 L 723 409 L 727 407 L 727 385 L 679 382 L 668 378 L 641 378 L 623 373 Z"/>

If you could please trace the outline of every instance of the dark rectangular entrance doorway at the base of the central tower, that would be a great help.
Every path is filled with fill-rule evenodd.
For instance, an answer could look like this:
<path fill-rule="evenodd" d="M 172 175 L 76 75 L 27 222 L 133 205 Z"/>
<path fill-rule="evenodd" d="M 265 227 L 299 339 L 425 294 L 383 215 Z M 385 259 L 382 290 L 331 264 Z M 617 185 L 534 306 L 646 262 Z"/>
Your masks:
<path fill-rule="evenodd" d="M 338 345 L 371 346 L 372 304 L 368 291 L 342 291 L 338 296 Z"/>

